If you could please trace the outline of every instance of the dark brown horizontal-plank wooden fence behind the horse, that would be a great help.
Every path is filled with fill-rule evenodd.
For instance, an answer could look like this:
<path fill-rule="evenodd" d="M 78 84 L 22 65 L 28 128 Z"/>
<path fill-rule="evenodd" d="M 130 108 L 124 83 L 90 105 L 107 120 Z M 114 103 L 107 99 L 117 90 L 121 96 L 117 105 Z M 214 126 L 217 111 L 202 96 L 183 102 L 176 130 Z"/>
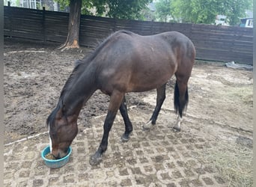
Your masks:
<path fill-rule="evenodd" d="M 4 36 L 64 43 L 68 13 L 4 7 Z M 96 46 L 114 31 L 127 29 L 141 35 L 179 31 L 195 44 L 197 59 L 235 61 L 252 65 L 253 29 L 231 26 L 147 22 L 81 16 L 81 46 Z"/>

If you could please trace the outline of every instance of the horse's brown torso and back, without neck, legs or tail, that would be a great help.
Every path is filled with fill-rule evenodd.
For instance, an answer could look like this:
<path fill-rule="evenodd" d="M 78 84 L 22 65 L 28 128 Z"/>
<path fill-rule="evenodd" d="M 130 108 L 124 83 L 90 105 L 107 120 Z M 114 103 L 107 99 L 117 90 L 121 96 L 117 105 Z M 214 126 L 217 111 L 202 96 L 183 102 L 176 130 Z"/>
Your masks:
<path fill-rule="evenodd" d="M 129 31 L 112 34 L 98 54 L 100 89 L 106 93 L 116 88 L 148 91 L 165 84 L 177 71 L 190 42 L 174 31 L 151 36 Z"/>

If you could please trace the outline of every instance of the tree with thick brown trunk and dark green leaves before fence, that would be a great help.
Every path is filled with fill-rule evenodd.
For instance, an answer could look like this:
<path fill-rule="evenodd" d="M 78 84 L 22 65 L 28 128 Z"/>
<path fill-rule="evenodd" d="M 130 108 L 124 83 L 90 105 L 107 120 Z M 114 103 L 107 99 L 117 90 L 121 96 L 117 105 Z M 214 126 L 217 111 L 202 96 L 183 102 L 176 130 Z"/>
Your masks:
<path fill-rule="evenodd" d="M 55 0 L 62 7 L 69 5 L 70 16 L 66 42 L 60 49 L 79 48 L 79 26 L 81 12 L 90 14 L 96 7 L 96 14 L 121 19 L 135 19 L 140 16 L 140 11 L 152 0 Z"/>

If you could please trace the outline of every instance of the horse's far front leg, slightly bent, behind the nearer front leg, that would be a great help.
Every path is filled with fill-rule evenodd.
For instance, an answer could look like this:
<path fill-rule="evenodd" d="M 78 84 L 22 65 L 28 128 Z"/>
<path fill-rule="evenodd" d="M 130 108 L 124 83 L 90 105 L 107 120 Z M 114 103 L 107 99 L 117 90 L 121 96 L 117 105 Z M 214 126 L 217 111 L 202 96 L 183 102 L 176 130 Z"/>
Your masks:
<path fill-rule="evenodd" d="M 129 135 L 132 132 L 132 123 L 129 120 L 129 116 L 127 112 L 127 102 L 126 102 L 125 96 L 123 101 L 121 102 L 119 111 L 124 119 L 124 125 L 125 125 L 125 132 L 124 132 L 124 135 L 122 135 L 121 137 L 121 141 L 129 141 Z"/>

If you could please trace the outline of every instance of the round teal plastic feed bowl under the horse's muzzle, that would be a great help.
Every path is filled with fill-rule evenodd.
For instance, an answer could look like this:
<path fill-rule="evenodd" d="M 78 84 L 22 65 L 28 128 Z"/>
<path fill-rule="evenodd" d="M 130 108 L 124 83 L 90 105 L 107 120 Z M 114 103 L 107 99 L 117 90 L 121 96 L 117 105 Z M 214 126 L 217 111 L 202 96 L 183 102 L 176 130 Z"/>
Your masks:
<path fill-rule="evenodd" d="M 46 159 L 46 155 L 50 152 L 50 148 L 49 146 L 47 146 L 46 148 L 43 149 L 42 153 L 41 153 L 41 157 L 44 161 L 44 163 L 46 164 L 46 166 L 48 166 L 49 168 L 61 168 L 62 166 L 66 165 L 67 162 L 70 159 L 70 154 L 72 153 L 72 148 L 69 147 L 68 148 L 68 153 L 67 156 L 64 156 L 61 159 L 56 159 L 56 160 L 50 160 L 50 159 Z"/>

